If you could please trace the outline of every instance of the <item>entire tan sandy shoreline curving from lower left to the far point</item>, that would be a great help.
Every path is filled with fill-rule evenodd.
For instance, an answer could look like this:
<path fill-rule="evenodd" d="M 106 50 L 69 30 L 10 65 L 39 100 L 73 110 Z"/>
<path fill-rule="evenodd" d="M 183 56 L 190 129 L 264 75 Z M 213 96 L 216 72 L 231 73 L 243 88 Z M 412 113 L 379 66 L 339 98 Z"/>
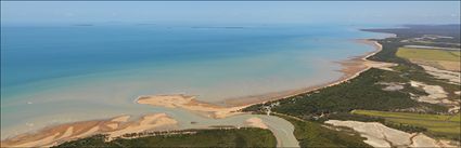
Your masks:
<path fill-rule="evenodd" d="M 342 65 L 342 69 L 338 71 L 343 72 L 343 76 L 337 80 L 334 80 L 332 82 L 326 82 L 324 84 L 319 84 L 315 86 L 292 90 L 292 91 L 283 91 L 283 92 L 277 92 L 277 93 L 268 93 L 264 95 L 254 95 L 254 96 L 247 96 L 242 98 L 233 98 L 232 100 L 227 99 L 223 102 L 226 106 L 218 106 L 214 104 L 202 103 L 202 102 L 195 100 L 193 96 L 185 96 L 185 95 L 140 96 L 137 99 L 137 103 L 152 105 L 152 106 L 167 107 L 167 108 L 181 108 L 189 111 L 197 112 L 199 115 L 203 115 L 208 118 L 215 118 L 215 119 L 227 118 L 230 116 L 244 113 L 244 112 L 240 112 L 239 110 L 254 104 L 283 99 L 283 98 L 287 98 L 298 94 L 308 93 L 308 92 L 317 91 L 323 88 L 336 85 L 356 78 L 361 72 L 372 67 L 386 68 L 386 67 L 393 66 L 393 64 L 379 63 L 379 62 L 372 62 L 367 59 L 368 57 L 376 54 L 377 52 L 382 50 L 382 45 L 379 44 L 376 41 L 362 39 L 362 40 L 356 40 L 356 42 L 373 45 L 375 50 L 372 52 L 366 53 L 364 55 L 361 55 L 361 56 L 356 56 L 346 60 L 337 62 L 338 64 Z M 181 97 L 178 97 L 178 96 L 181 96 Z M 161 99 L 158 99 L 159 97 Z M 151 116 L 156 118 L 150 118 Z M 53 145 L 56 145 L 57 143 L 62 143 L 62 142 L 75 139 L 75 138 L 81 138 L 81 137 L 90 136 L 93 134 L 116 133 L 114 135 L 120 136 L 125 133 L 142 132 L 142 131 L 154 130 L 154 129 L 159 130 L 158 127 L 163 125 L 177 124 L 177 121 L 175 119 L 166 116 L 165 113 L 164 115 L 146 115 L 142 117 L 141 119 L 138 119 L 131 122 L 127 122 L 126 120 L 124 120 L 124 122 L 127 122 L 124 124 L 121 124 L 123 122 L 115 120 L 117 118 L 119 117 L 115 117 L 113 118 L 113 120 L 91 120 L 91 121 L 80 121 L 80 122 L 74 122 L 74 123 L 53 125 L 53 126 L 39 130 L 38 132 L 25 133 L 21 135 L 15 135 L 11 138 L 7 138 L 1 142 L 1 146 L 2 147 L 4 146 L 53 146 Z M 148 119 L 150 121 L 159 120 L 159 122 L 154 122 L 153 124 L 143 122 L 144 120 L 148 120 Z M 259 123 L 260 121 L 257 121 L 257 122 L 256 121 L 257 119 L 253 119 L 248 121 L 248 123 L 259 127 L 266 126 L 266 125 L 261 125 L 261 123 Z M 74 130 L 74 127 L 80 127 L 81 130 L 78 130 L 78 132 L 73 133 L 73 131 L 76 131 Z"/>

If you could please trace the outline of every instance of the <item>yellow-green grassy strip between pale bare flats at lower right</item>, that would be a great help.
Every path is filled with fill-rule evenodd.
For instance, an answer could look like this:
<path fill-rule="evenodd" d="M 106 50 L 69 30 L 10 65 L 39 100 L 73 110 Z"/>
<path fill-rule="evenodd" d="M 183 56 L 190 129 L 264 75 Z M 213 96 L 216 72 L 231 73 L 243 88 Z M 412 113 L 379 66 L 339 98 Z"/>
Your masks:
<path fill-rule="evenodd" d="M 425 127 L 430 135 L 438 137 L 459 138 L 461 133 L 460 113 L 454 116 L 444 116 L 374 110 L 354 110 L 351 113 L 381 117 L 393 123 Z"/>

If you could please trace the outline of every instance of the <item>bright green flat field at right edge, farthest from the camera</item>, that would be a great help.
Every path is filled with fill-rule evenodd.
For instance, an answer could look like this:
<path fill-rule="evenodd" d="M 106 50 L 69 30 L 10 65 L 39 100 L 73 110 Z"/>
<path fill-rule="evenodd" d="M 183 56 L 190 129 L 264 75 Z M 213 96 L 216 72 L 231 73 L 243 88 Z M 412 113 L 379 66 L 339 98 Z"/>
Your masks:
<path fill-rule="evenodd" d="M 399 48 L 396 54 L 409 59 L 460 62 L 459 51 Z"/>

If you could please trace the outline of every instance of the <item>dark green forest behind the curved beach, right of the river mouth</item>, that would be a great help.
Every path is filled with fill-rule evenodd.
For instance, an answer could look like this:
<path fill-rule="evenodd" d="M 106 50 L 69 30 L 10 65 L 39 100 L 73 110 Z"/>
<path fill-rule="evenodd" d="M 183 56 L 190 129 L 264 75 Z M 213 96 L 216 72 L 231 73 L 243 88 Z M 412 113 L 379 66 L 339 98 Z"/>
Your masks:
<path fill-rule="evenodd" d="M 410 98 L 410 92 L 422 93 L 409 86 L 400 91 L 383 91 L 379 82 L 408 82 L 400 72 L 370 69 L 346 83 L 321 89 L 317 92 L 296 95 L 286 99 L 269 102 L 245 108 L 244 111 L 264 110 L 264 106 L 278 103 L 272 111 L 311 120 L 320 115 L 333 119 L 332 113 L 349 112 L 354 109 L 394 111 L 407 108 L 443 112 L 445 107 L 419 103 Z"/>

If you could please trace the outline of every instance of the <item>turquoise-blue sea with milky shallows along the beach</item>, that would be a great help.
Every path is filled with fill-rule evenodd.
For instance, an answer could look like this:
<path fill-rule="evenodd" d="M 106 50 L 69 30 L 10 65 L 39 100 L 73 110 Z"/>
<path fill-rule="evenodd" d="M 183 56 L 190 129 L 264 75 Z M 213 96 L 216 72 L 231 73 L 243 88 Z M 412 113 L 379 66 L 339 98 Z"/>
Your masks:
<path fill-rule="evenodd" d="M 118 115 L 165 112 L 139 95 L 226 98 L 312 86 L 373 49 L 350 26 L 2 26 L 2 135 Z M 4 136 L 2 136 L 4 137 Z"/>

